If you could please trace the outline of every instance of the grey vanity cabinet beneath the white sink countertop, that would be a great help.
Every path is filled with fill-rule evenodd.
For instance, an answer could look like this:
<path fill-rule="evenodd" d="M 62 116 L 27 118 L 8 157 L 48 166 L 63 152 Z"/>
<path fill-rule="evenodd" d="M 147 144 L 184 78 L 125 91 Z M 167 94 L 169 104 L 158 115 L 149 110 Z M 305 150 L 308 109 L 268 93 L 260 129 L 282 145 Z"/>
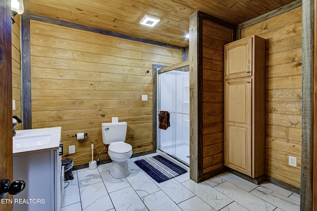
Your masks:
<path fill-rule="evenodd" d="M 21 179 L 26 183 L 25 189 L 13 196 L 13 211 L 60 211 L 64 183 L 61 136 L 60 127 L 53 129 L 58 139 L 53 147 L 13 153 L 13 180 Z"/>

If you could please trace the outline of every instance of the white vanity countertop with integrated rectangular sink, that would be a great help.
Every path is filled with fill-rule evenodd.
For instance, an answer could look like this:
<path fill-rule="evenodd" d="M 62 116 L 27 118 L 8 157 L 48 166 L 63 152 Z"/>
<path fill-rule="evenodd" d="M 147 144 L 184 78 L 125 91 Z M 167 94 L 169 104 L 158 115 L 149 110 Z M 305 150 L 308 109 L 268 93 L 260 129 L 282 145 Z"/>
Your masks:
<path fill-rule="evenodd" d="M 13 155 L 59 148 L 61 127 L 16 130 L 12 138 Z"/>

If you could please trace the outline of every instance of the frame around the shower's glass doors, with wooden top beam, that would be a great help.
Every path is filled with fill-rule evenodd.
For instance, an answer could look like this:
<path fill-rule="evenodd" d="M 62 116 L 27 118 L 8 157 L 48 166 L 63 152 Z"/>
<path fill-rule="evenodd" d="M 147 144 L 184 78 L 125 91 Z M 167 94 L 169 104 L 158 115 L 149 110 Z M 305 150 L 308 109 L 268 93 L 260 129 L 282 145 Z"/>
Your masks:
<path fill-rule="evenodd" d="M 158 128 L 159 128 L 159 121 L 158 121 L 158 108 L 159 108 L 159 74 L 172 71 L 178 68 L 186 67 L 189 66 L 189 61 L 184 61 L 178 64 L 174 64 L 171 66 L 163 66 L 163 65 L 153 65 L 153 152 L 157 152 L 159 150 L 160 152 L 166 154 L 168 157 L 175 159 L 175 161 L 180 162 L 181 164 L 185 165 L 188 167 L 188 164 L 186 164 L 184 161 L 178 159 L 177 157 L 173 157 L 163 150 L 160 150 L 158 148 L 158 140 L 159 140 L 159 133 L 158 133 Z"/>

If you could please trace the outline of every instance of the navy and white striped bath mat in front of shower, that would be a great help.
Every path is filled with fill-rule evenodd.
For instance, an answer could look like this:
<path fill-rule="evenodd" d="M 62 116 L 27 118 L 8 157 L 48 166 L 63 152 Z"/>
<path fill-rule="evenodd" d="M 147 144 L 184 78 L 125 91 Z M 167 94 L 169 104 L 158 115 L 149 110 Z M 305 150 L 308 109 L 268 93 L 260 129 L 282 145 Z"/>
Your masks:
<path fill-rule="evenodd" d="M 186 173 L 187 170 L 160 155 L 134 162 L 158 183 Z"/>

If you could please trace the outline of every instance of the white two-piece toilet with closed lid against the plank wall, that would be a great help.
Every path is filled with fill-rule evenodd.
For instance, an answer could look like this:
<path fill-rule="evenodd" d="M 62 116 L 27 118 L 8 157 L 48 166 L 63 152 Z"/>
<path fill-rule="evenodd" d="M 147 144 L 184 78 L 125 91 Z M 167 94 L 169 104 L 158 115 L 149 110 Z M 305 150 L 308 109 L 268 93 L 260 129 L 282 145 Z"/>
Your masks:
<path fill-rule="evenodd" d="M 104 144 L 109 144 L 108 155 L 112 160 L 110 174 L 114 178 L 123 178 L 129 175 L 128 159 L 132 156 L 132 146 L 125 143 L 127 123 L 102 123 Z"/>

